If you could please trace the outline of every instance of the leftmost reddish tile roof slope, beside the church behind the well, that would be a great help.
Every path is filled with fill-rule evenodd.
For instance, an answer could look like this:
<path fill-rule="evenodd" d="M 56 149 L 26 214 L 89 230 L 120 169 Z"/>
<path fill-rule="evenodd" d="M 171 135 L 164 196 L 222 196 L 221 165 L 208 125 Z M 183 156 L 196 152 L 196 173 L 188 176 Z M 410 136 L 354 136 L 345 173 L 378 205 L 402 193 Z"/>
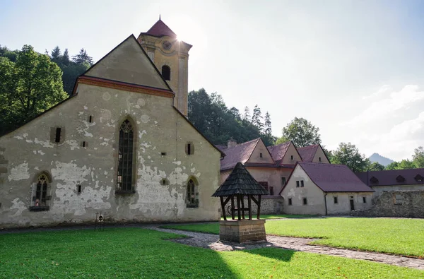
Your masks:
<path fill-rule="evenodd" d="M 260 140 L 261 138 L 256 138 L 252 141 L 240 143 L 237 144 L 237 146 L 221 150 L 225 153 L 225 157 L 221 160 L 220 170 L 232 169 L 235 165 L 237 165 L 237 162 L 245 164 L 245 162 L 249 160 L 250 155 L 252 155 L 254 148 Z"/>

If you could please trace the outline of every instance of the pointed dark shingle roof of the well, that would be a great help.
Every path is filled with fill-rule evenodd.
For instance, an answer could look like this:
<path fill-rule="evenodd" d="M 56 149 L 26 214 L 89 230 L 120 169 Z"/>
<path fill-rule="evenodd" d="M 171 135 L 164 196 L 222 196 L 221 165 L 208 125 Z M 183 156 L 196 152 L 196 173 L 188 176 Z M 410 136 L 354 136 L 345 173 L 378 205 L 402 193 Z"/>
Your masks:
<path fill-rule="evenodd" d="M 212 196 L 230 196 L 235 194 L 269 195 L 269 191 L 249 174 L 241 162 L 237 162 L 225 182 L 219 186 Z"/>

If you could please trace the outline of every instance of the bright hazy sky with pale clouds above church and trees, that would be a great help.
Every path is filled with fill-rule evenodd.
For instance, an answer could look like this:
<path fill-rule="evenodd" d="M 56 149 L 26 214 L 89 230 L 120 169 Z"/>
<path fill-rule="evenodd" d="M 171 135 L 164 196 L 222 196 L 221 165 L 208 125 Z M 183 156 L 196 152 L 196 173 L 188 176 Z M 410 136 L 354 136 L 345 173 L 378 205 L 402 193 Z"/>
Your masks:
<path fill-rule="evenodd" d="M 159 14 L 192 44 L 189 90 L 319 127 L 330 150 L 411 159 L 424 146 L 424 1 L 0 0 L 0 44 L 95 61 Z"/>

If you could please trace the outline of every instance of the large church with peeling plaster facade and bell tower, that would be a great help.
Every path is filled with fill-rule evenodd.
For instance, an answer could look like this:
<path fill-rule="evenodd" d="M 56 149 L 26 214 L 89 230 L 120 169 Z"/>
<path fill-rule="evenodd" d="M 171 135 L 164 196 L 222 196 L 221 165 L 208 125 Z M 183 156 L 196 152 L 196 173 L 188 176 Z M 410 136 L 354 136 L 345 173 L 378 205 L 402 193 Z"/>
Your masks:
<path fill-rule="evenodd" d="M 0 228 L 218 220 L 225 155 L 187 119 L 188 57 L 158 20 L 0 137 Z"/>

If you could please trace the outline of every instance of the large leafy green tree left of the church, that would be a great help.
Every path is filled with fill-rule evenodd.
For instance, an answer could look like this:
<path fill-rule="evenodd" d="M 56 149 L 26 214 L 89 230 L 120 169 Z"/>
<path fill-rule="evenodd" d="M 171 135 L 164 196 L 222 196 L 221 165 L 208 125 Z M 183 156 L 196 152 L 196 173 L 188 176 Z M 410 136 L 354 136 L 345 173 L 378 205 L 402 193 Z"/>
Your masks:
<path fill-rule="evenodd" d="M 2 133 L 16 128 L 66 98 L 57 64 L 24 45 L 16 63 L 0 59 Z"/>

